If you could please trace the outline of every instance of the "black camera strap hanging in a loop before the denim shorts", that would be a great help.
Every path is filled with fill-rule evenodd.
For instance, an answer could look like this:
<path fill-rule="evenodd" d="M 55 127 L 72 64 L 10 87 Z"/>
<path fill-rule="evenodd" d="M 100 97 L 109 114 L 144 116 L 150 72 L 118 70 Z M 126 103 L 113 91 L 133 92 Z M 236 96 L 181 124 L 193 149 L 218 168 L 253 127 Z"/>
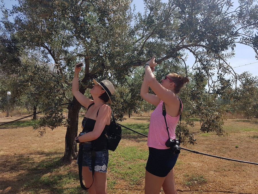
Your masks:
<path fill-rule="evenodd" d="M 95 160 L 96 160 L 96 151 L 95 150 L 91 150 L 91 171 L 92 171 L 92 183 L 94 181 L 93 178 L 93 174 L 94 174 L 94 168 L 95 168 Z M 90 187 L 85 187 L 82 181 L 82 162 L 83 162 L 83 149 L 79 147 L 79 151 L 78 151 L 78 170 L 79 170 L 79 179 L 80 179 L 80 185 L 81 188 L 83 188 L 84 190 L 88 190 Z"/>

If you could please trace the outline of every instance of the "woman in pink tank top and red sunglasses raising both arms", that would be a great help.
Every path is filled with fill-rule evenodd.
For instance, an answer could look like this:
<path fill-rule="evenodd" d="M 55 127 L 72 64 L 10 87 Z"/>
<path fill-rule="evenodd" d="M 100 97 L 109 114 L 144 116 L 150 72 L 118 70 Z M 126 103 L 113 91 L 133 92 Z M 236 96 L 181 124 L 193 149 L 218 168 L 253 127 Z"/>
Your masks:
<path fill-rule="evenodd" d="M 154 74 L 155 57 L 145 65 L 145 76 L 140 95 L 147 102 L 156 105 L 150 116 L 147 145 L 149 157 L 145 171 L 145 193 L 159 194 L 161 187 L 165 193 L 177 193 L 174 180 L 174 169 L 178 154 L 166 146 L 166 141 L 175 139 L 175 128 L 179 120 L 180 102 L 177 94 L 183 85 L 189 81 L 187 77 L 171 73 L 159 83 Z M 155 94 L 148 93 L 150 87 Z M 166 121 L 162 115 L 162 105 L 165 104 Z M 167 130 L 168 127 L 168 130 Z"/>

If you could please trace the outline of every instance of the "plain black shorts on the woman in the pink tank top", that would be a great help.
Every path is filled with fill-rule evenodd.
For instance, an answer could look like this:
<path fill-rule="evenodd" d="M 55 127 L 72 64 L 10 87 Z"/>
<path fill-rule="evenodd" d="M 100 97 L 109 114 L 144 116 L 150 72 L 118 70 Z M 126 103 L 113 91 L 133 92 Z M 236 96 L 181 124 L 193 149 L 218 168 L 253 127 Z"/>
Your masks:
<path fill-rule="evenodd" d="M 178 154 L 173 154 L 172 149 L 156 149 L 149 147 L 149 157 L 146 170 L 159 177 L 165 177 L 177 162 Z"/>

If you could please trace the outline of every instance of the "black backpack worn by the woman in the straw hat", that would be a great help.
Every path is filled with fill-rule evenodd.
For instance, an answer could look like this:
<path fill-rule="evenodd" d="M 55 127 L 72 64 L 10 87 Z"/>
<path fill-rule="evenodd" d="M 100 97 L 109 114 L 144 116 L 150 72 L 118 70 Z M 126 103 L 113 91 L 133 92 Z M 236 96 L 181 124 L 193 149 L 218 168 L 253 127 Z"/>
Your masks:
<path fill-rule="evenodd" d="M 114 115 L 111 114 L 112 118 L 110 120 L 109 129 L 107 130 L 107 145 L 108 149 L 115 151 L 118 143 L 122 138 L 122 129 L 121 126 L 116 123 Z"/>

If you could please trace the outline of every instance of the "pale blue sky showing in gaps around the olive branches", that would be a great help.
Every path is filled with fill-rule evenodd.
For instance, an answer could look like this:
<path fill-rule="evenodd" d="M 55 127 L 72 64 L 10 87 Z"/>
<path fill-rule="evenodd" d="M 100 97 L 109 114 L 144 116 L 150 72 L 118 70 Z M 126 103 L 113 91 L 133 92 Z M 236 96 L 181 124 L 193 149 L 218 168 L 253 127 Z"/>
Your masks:
<path fill-rule="evenodd" d="M 163 0 L 165 2 L 165 0 Z M 16 3 L 13 0 L 4 0 L 7 9 L 11 9 L 12 5 Z M 143 11 L 143 1 L 133 0 L 133 4 L 136 5 L 137 11 Z M 186 64 L 192 67 L 194 64 L 194 57 L 189 53 Z M 253 76 L 258 76 L 258 60 L 255 59 L 254 50 L 247 46 L 237 43 L 235 48 L 235 57 L 227 60 L 228 64 L 234 69 L 237 74 L 241 74 L 245 71 L 250 72 Z"/>

